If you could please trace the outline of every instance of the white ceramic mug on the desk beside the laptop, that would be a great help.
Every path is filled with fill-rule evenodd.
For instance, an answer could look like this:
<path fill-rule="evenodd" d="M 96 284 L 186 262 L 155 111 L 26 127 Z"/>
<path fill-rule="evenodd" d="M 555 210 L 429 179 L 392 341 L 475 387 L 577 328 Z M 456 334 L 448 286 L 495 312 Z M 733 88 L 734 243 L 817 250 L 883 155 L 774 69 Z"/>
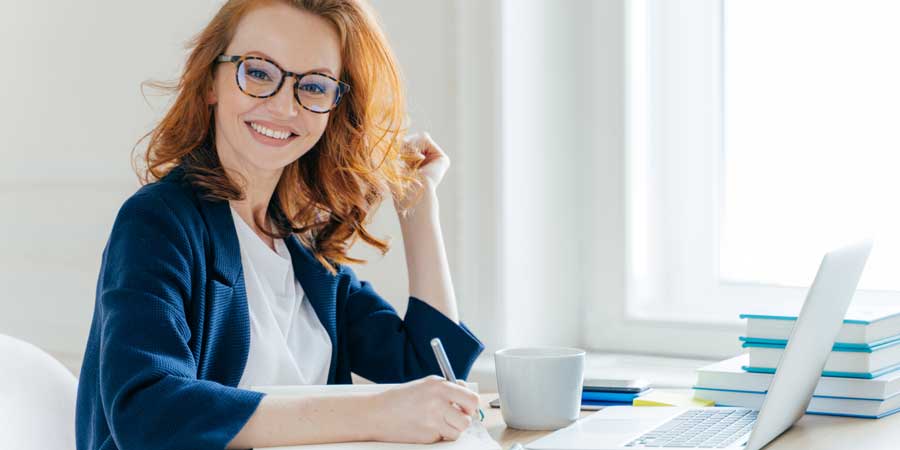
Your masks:
<path fill-rule="evenodd" d="M 500 412 L 511 428 L 556 430 L 578 419 L 584 350 L 507 348 L 494 353 Z"/>

